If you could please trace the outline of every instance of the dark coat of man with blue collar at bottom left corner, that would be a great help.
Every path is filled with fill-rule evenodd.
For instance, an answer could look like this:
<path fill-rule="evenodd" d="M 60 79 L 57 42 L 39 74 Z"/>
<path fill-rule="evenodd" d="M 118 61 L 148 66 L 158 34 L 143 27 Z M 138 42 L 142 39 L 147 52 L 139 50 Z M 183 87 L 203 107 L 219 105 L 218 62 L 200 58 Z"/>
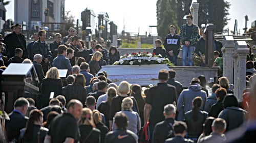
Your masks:
<path fill-rule="evenodd" d="M 5 121 L 6 135 L 8 140 L 13 140 L 14 138 L 18 140 L 20 130 L 26 127 L 29 118 L 20 114 L 19 112 L 11 112 L 8 114 L 10 120 Z"/>

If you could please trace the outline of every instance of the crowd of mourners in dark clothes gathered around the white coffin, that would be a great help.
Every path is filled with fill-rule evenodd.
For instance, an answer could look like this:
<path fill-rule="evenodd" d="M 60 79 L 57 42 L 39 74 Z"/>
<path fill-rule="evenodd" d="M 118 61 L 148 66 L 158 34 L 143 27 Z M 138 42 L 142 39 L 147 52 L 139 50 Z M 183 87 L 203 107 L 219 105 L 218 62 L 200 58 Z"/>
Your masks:
<path fill-rule="evenodd" d="M 192 19 L 187 16 L 180 36 L 175 26 L 170 26 L 165 49 L 158 39 L 153 52 L 175 65 L 180 43 L 183 65 L 187 52 L 204 54 L 205 36 L 197 40 L 198 27 Z M 56 33 L 48 45 L 47 32 L 40 30 L 26 46 L 21 25 L 11 29 L 13 32 L 0 42 L 0 70 L 11 63 L 33 63 L 39 92 L 15 101 L 14 110 L 5 116 L 0 142 L 249 142 L 256 131 L 255 56 L 249 44 L 247 88 L 243 100 L 238 101 L 226 77 L 207 90 L 206 78 L 199 75 L 183 89 L 173 69 L 161 69 L 159 83 L 145 90 L 126 81 L 116 85 L 106 71 L 99 73 L 101 66 L 120 59 L 117 47 L 111 46 L 109 51 L 103 47 L 103 38 L 92 40 L 89 49 L 70 28 L 62 41 Z M 218 41 L 215 45 L 214 66 L 222 68 L 222 45 Z M 191 63 L 188 54 L 188 65 Z M 62 83 L 58 69 L 68 69 L 66 83 Z M 55 97 L 50 96 L 52 92 Z"/>

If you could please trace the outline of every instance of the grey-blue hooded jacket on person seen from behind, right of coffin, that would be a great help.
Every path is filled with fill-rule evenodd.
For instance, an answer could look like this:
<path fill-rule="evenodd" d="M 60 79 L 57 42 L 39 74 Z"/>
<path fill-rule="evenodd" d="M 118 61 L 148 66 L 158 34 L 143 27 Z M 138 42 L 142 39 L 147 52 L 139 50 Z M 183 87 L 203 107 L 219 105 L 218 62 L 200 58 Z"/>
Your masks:
<path fill-rule="evenodd" d="M 188 89 L 185 89 L 181 92 L 180 97 L 177 102 L 177 111 L 179 112 L 184 105 L 184 112 L 190 111 L 192 109 L 192 101 L 196 97 L 201 97 L 203 100 L 202 107 L 200 108 L 203 110 L 203 107 L 206 103 L 206 92 L 201 90 L 201 86 L 198 83 L 190 85 Z"/>

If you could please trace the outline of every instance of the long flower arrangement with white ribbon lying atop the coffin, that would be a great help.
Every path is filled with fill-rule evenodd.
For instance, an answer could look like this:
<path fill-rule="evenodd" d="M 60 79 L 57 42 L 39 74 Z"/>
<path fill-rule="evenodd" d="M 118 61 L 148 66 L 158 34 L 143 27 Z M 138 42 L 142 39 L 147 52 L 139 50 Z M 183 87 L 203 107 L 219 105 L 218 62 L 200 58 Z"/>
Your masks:
<path fill-rule="evenodd" d="M 113 65 L 141 65 L 141 64 L 167 64 L 174 66 L 167 58 L 163 58 L 162 55 L 156 55 L 155 53 L 148 52 L 133 52 L 132 54 L 125 54 L 120 56 L 120 60 L 116 61 Z"/>

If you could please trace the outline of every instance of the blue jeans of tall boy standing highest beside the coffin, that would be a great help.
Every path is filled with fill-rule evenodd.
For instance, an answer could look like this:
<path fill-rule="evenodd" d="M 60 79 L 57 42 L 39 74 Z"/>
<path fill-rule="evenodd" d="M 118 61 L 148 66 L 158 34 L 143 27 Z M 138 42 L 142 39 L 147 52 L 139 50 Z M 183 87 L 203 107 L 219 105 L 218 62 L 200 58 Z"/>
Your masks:
<path fill-rule="evenodd" d="M 195 51 L 195 46 L 186 46 L 182 45 L 182 66 L 186 66 L 187 61 L 187 51 L 188 51 L 188 64 L 189 66 L 192 66 L 193 59 L 191 58 L 193 52 Z"/>

